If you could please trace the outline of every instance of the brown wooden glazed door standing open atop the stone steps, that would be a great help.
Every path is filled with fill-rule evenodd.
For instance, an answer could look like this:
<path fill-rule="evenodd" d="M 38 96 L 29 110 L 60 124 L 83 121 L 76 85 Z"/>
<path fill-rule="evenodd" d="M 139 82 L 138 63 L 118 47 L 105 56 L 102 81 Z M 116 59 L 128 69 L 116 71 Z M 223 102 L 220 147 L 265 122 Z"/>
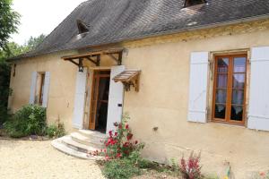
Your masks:
<path fill-rule="evenodd" d="M 95 130 L 98 118 L 100 115 L 100 106 L 102 104 L 108 104 L 108 96 L 106 96 L 102 87 L 103 82 L 110 80 L 110 71 L 101 70 L 94 71 L 93 81 L 91 87 L 91 109 L 90 109 L 90 123 L 89 129 Z"/>

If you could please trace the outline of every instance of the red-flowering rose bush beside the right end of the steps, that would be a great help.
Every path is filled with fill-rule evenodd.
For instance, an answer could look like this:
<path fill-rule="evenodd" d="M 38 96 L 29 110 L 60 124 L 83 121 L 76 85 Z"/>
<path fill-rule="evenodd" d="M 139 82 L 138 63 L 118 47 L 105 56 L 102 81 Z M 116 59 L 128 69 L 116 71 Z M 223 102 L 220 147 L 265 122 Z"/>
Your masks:
<path fill-rule="evenodd" d="M 108 139 L 104 141 L 105 149 L 96 150 L 91 155 L 104 156 L 106 160 L 128 157 L 134 150 L 143 149 L 143 144 L 133 139 L 133 133 L 127 124 L 130 119 L 124 115 L 121 123 L 115 123 L 116 131 L 108 132 Z"/>

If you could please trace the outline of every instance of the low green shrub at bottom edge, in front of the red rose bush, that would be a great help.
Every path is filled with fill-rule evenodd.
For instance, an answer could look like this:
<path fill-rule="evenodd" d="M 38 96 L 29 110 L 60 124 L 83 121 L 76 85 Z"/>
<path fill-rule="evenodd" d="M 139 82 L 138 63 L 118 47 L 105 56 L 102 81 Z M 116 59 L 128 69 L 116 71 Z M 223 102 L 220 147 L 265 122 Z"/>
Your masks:
<path fill-rule="evenodd" d="M 108 179 L 128 179 L 134 175 L 141 175 L 141 169 L 135 165 L 132 159 L 121 158 L 106 162 L 102 173 Z"/>

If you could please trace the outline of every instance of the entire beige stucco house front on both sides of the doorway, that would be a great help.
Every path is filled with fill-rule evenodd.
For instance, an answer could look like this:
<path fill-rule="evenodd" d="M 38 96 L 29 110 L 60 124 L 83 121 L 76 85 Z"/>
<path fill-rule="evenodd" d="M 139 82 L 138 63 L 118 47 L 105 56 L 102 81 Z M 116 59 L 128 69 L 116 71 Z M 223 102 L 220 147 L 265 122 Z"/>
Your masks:
<path fill-rule="evenodd" d="M 223 173 L 230 162 L 236 178 L 269 169 L 269 132 L 230 124 L 187 122 L 191 52 L 269 46 L 268 27 L 269 21 L 256 21 L 117 45 L 127 49 L 123 59 L 126 67 L 142 70 L 140 91 L 125 93 L 124 110 L 131 116 L 135 138 L 146 143 L 144 157 L 169 162 L 170 158 L 181 158 L 191 150 L 202 151 L 205 173 Z M 75 53 L 62 52 L 17 62 L 16 76 L 11 82 L 13 110 L 29 102 L 31 72 L 49 71 L 48 122 L 59 118 L 66 130 L 72 132 L 77 67 L 60 57 Z M 105 58 L 102 66 L 114 64 L 108 56 Z M 90 86 L 91 82 L 88 90 Z M 153 127 L 158 127 L 158 131 L 154 132 Z"/>

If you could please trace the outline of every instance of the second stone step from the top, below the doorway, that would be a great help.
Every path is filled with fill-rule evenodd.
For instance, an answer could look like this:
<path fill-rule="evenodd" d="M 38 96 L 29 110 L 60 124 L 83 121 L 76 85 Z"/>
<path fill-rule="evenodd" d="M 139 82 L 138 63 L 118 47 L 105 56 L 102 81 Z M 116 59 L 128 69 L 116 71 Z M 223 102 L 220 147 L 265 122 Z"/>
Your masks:
<path fill-rule="evenodd" d="M 102 141 L 100 141 L 100 139 L 96 139 L 94 137 L 91 137 L 91 138 L 85 137 L 80 132 L 72 132 L 70 135 L 71 135 L 72 140 L 78 143 L 91 146 L 96 149 L 104 148 L 104 144 Z"/>

